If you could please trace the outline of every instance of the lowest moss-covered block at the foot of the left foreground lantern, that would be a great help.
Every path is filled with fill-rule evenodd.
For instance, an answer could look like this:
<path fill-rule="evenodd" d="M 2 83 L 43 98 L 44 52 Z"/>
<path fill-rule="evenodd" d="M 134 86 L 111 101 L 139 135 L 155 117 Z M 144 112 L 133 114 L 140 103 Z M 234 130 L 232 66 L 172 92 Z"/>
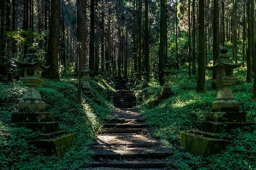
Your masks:
<path fill-rule="evenodd" d="M 46 155 L 63 158 L 75 139 L 74 134 L 65 134 L 53 139 L 34 140 L 31 143 L 38 148 L 45 149 Z"/>

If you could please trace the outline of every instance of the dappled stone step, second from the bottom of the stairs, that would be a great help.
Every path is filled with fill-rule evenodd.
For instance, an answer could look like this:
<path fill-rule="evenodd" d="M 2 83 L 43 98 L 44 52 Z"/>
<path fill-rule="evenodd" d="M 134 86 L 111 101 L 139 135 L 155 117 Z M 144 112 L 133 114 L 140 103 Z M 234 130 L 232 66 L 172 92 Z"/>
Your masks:
<path fill-rule="evenodd" d="M 94 151 L 94 160 L 102 159 L 163 159 L 172 154 L 163 147 L 126 147 L 118 146 L 103 146 L 102 148 L 92 148 Z"/>

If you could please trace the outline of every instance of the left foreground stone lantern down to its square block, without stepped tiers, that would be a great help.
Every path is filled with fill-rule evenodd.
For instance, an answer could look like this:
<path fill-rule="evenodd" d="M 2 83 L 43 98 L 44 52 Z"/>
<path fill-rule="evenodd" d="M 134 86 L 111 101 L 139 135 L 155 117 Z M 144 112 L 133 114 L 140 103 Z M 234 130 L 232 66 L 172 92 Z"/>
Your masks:
<path fill-rule="evenodd" d="M 24 68 L 24 77 L 20 80 L 27 86 L 27 91 L 23 100 L 19 102 L 19 112 L 44 112 L 46 104 L 42 101 L 38 87 L 43 83 L 40 78 L 40 71 L 45 71 L 48 67 L 42 65 L 36 56 L 34 47 L 28 48 L 28 54 L 23 62 L 15 62 L 17 66 Z"/>

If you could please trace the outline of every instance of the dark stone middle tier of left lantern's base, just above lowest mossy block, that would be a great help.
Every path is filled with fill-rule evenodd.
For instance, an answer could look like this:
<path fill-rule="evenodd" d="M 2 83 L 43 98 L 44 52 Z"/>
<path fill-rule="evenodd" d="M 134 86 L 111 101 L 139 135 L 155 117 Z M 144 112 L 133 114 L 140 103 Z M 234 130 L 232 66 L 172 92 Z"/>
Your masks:
<path fill-rule="evenodd" d="M 18 128 L 24 127 L 33 131 L 41 131 L 42 133 L 51 133 L 56 131 L 59 122 L 18 122 L 16 126 Z"/>

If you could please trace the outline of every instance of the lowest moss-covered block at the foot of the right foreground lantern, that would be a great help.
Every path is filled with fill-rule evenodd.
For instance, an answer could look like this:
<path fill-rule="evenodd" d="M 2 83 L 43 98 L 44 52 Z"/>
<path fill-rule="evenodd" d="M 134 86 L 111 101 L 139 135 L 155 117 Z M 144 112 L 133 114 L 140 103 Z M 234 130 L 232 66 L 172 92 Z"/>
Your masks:
<path fill-rule="evenodd" d="M 212 136 L 212 134 L 208 135 Z M 217 154 L 226 148 L 227 140 L 205 137 L 203 133 L 181 133 L 180 145 L 194 156 L 209 156 Z"/>

